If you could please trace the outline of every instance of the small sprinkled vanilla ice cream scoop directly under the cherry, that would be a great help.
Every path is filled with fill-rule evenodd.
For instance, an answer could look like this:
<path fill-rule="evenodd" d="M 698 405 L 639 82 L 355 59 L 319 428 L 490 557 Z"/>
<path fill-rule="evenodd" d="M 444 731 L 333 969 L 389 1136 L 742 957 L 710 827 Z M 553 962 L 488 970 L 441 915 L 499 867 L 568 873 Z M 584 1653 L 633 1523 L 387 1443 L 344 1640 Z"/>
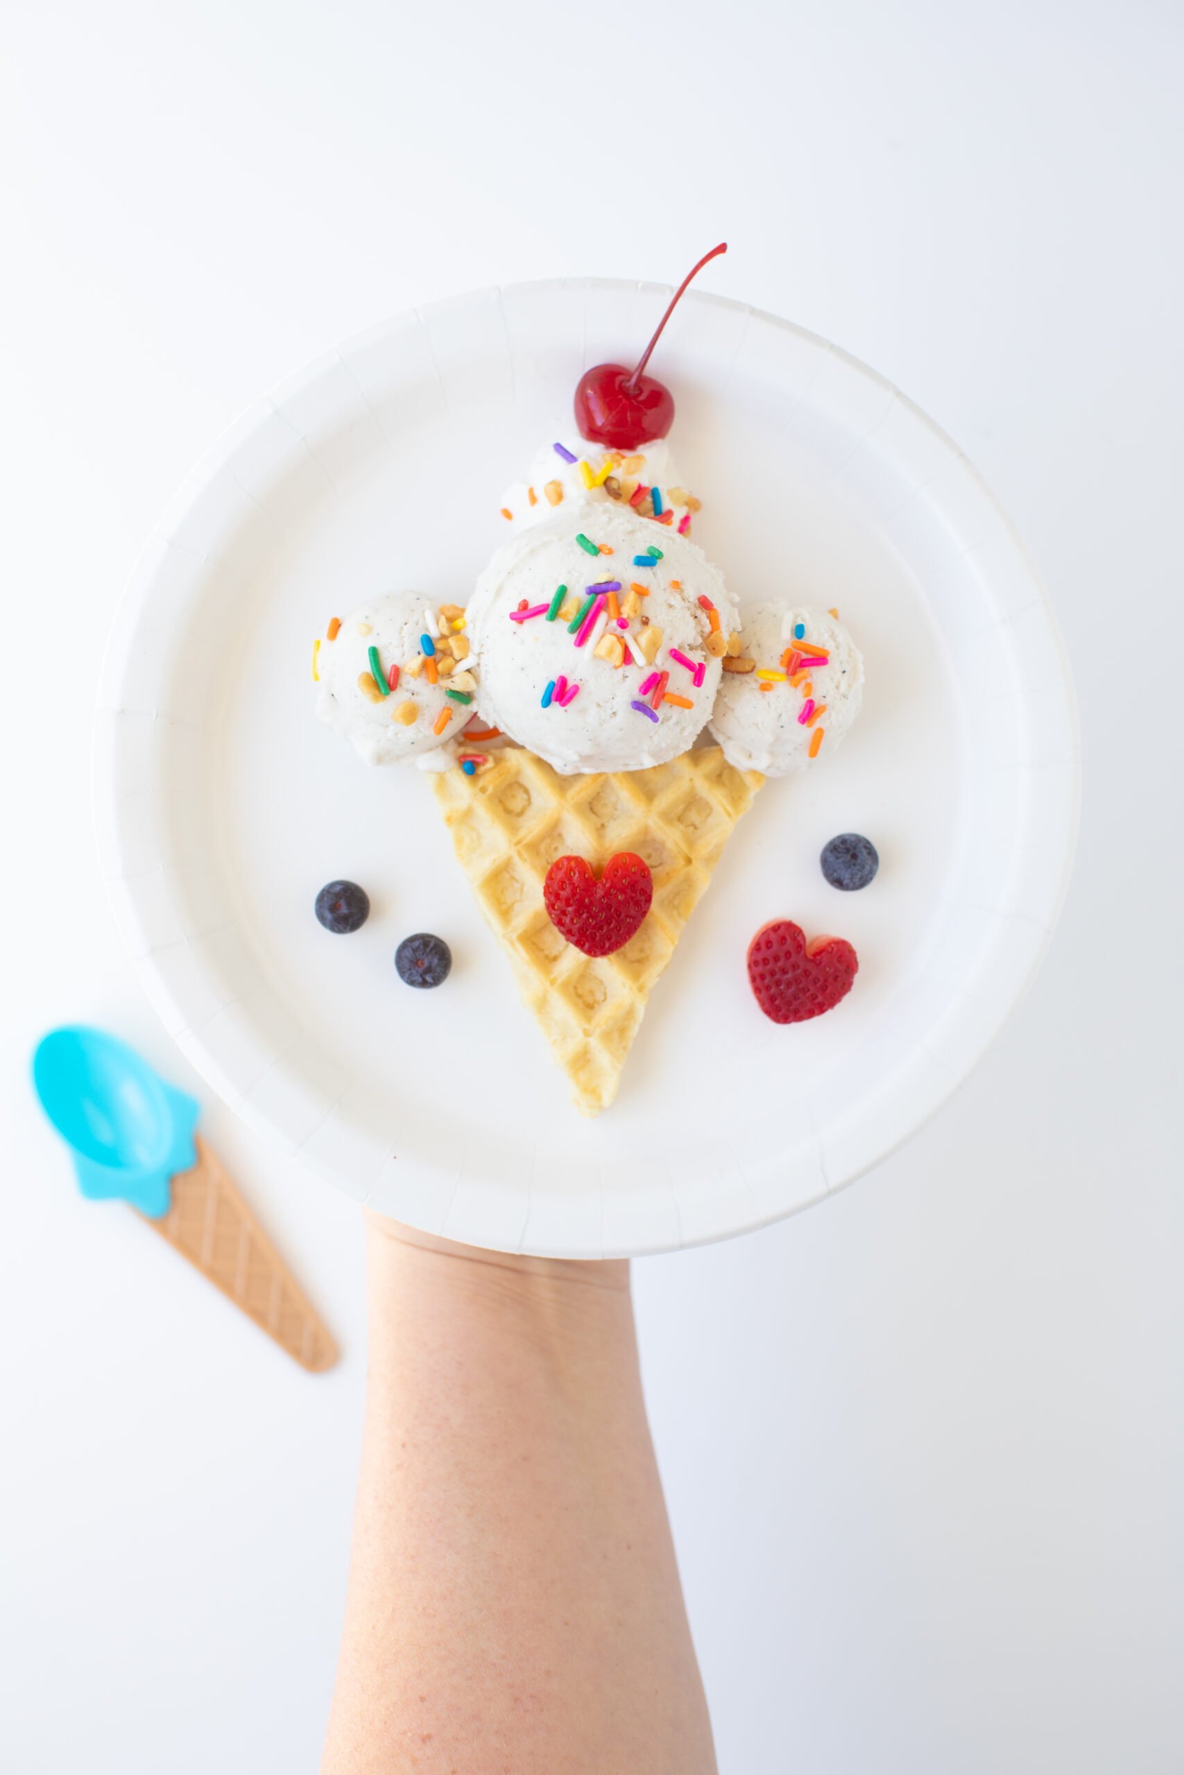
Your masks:
<path fill-rule="evenodd" d="M 525 479 L 506 488 L 502 520 L 513 531 L 547 524 L 561 509 L 573 506 L 627 506 L 639 517 L 673 511 L 673 527 L 691 525 L 699 501 L 680 481 L 666 438 L 655 438 L 641 451 L 604 451 L 575 433 L 556 435 L 531 462 Z"/>

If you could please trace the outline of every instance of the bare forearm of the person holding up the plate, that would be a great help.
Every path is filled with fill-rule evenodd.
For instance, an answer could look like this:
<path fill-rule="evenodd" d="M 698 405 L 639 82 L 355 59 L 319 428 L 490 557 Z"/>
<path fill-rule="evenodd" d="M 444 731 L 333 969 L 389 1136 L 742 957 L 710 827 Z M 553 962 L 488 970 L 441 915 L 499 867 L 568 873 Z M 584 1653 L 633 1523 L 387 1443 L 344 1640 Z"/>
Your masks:
<path fill-rule="evenodd" d="M 628 1264 L 371 1218 L 367 1287 L 321 1775 L 715 1775 Z"/>

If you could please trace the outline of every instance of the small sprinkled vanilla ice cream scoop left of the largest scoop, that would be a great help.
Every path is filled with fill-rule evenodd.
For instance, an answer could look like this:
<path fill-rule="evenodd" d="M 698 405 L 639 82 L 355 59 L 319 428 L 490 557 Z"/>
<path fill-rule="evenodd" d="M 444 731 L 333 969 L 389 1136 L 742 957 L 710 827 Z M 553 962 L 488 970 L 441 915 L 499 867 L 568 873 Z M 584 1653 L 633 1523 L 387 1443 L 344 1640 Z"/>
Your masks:
<path fill-rule="evenodd" d="M 462 619 L 422 591 L 389 591 L 334 618 L 314 646 L 316 714 L 367 765 L 447 769 L 478 687 Z"/>

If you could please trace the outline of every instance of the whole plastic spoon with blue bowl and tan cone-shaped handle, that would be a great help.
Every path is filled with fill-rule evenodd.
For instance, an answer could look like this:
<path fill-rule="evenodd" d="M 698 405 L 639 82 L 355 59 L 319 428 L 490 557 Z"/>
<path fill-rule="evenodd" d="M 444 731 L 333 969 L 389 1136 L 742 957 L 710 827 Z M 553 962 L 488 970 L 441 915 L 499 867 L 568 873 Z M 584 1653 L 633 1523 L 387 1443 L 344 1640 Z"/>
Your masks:
<path fill-rule="evenodd" d="M 34 1053 L 34 1090 L 69 1147 L 91 1200 L 138 1209 L 304 1369 L 332 1369 L 337 1347 L 222 1164 L 193 1129 L 197 1102 L 105 1030 L 50 1030 Z"/>

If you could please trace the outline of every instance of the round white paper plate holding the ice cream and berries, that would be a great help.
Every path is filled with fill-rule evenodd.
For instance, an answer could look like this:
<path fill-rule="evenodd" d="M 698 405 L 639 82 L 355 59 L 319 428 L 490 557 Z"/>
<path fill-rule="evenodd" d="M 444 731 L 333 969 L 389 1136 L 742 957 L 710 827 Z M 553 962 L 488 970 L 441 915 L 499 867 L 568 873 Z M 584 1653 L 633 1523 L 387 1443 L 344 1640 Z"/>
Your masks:
<path fill-rule="evenodd" d="M 103 674 L 96 802 L 119 925 L 209 1085 L 323 1177 L 417 1227 L 612 1255 L 758 1227 L 838 1189 L 950 1095 L 1030 982 L 1072 854 L 1069 671 L 1040 584 L 966 458 L 822 339 L 692 295 L 662 341 L 696 538 L 742 598 L 838 605 L 864 714 L 808 781 L 769 783 L 659 983 L 621 1093 L 568 1104 L 454 864 L 430 786 L 312 715 L 311 641 L 394 586 L 465 602 L 502 486 L 628 359 L 667 291 L 520 284 L 401 316 L 277 389 L 181 488 Z M 866 832 L 864 893 L 818 850 Z M 334 877 L 371 893 L 337 939 Z M 769 918 L 849 937 L 850 998 L 767 1022 L 744 953 Z M 396 978 L 435 930 L 438 992 Z"/>

